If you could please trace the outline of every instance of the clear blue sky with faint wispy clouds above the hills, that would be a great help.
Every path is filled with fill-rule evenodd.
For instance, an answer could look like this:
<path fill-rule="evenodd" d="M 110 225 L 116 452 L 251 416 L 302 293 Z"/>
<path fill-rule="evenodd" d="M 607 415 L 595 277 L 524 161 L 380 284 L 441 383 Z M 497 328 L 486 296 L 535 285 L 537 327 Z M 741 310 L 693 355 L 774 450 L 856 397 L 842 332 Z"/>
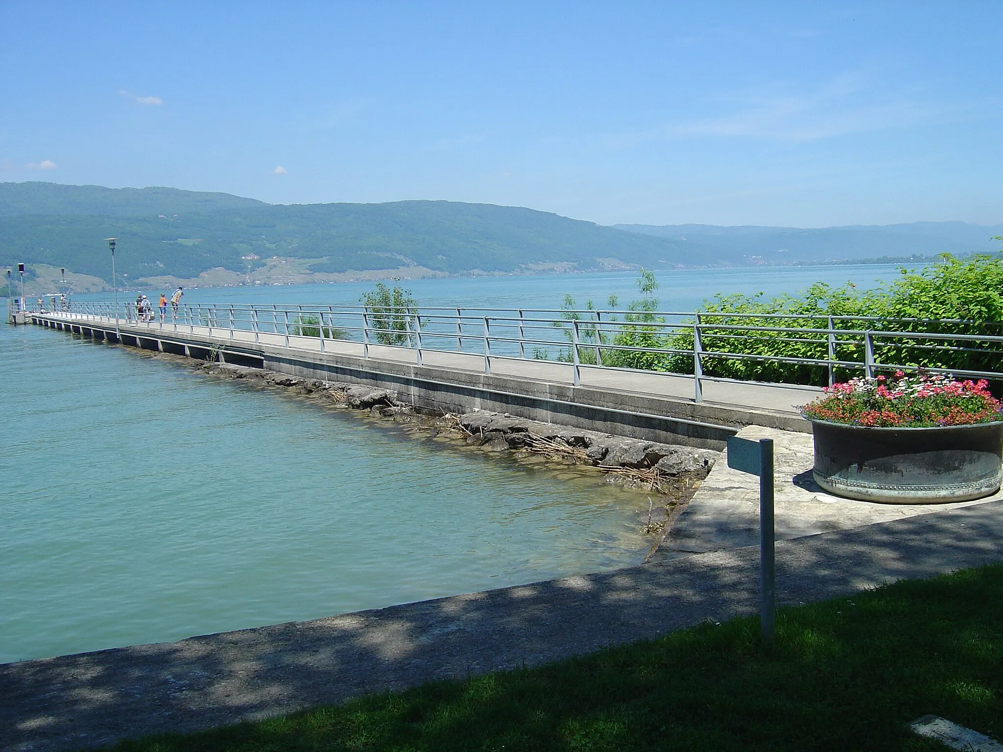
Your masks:
<path fill-rule="evenodd" d="M 1001 21 L 998 0 L 0 0 L 0 180 L 997 224 Z"/>

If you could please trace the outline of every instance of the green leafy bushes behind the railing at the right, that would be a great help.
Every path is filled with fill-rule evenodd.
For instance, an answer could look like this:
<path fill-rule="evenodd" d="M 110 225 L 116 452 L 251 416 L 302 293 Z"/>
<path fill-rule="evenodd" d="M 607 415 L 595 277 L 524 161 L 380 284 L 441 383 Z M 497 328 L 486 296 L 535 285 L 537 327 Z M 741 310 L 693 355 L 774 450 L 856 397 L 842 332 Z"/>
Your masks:
<path fill-rule="evenodd" d="M 658 283 L 641 271 L 642 298 L 628 306 L 616 334 L 598 331 L 586 322 L 579 326 L 580 361 L 594 363 L 594 344 L 658 349 L 668 352 L 614 350 L 600 347 L 603 365 L 671 373 L 693 373 L 692 329 L 668 330 L 656 326 L 658 301 L 652 293 Z M 612 308 L 613 306 L 611 306 Z M 565 308 L 574 308 L 566 298 Z M 591 309 L 591 303 L 589 305 Z M 784 318 L 771 318 L 782 314 Z M 568 312 L 566 319 L 580 314 Z M 829 317 L 833 360 L 864 365 L 863 331 L 913 334 L 1003 336 L 1003 261 L 999 257 L 950 255 L 922 271 L 901 270 L 901 277 L 877 290 L 860 291 L 851 283 L 832 287 L 814 283 L 797 295 L 763 298 L 762 294 L 716 295 L 700 313 L 701 360 L 704 374 L 722 378 L 822 385 L 829 381 L 827 364 L 810 365 L 784 359 L 826 360 Z M 762 318 L 757 318 L 762 317 Z M 789 317 L 789 318 L 786 318 Z M 843 317 L 843 318 L 841 318 Z M 611 321 L 616 321 L 612 317 Z M 683 322 L 692 326 L 693 321 Z M 565 325 L 558 324 L 564 328 Z M 815 331 L 750 331 L 802 329 Z M 740 327 L 729 329 L 727 327 Z M 569 337 L 570 339 L 570 337 Z M 590 345 L 586 348 L 585 345 Z M 1003 343 L 969 344 L 952 339 L 873 337 L 878 363 L 912 368 L 958 371 L 998 371 Z M 727 357 L 757 356 L 753 358 Z M 862 367 L 832 369 L 834 380 L 860 375 Z"/>

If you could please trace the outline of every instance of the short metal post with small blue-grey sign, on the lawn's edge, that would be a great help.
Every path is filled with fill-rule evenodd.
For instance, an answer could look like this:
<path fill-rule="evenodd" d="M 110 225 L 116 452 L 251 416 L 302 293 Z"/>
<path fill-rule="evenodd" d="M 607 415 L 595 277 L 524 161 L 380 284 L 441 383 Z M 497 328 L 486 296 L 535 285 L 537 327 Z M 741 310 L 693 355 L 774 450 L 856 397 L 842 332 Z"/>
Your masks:
<path fill-rule="evenodd" d="M 759 625 L 762 642 L 776 634 L 776 567 L 773 551 L 773 439 L 728 438 L 728 467 L 759 476 Z"/>

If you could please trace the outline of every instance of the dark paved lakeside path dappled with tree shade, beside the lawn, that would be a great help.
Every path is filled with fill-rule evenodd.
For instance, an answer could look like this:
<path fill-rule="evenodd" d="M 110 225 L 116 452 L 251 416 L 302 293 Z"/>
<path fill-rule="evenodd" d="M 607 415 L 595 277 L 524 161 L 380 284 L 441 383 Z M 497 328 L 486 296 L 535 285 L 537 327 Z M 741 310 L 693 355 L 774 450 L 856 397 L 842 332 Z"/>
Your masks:
<path fill-rule="evenodd" d="M 1003 559 L 1003 501 L 777 543 L 782 604 Z M 535 666 L 754 613 L 758 550 L 0 666 L 0 749 L 66 750 Z"/>

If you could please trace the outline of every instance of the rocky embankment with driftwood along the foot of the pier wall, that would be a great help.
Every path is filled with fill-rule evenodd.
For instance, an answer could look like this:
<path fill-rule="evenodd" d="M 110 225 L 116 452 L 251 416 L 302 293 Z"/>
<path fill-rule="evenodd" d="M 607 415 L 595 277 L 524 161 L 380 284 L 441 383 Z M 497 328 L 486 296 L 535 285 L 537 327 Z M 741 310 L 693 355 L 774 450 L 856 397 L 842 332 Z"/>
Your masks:
<path fill-rule="evenodd" d="M 622 482 L 664 492 L 678 490 L 680 483 L 692 487 L 707 476 L 719 456 L 708 449 L 613 436 L 484 410 L 463 415 L 421 414 L 412 405 L 399 402 L 395 391 L 361 384 L 304 379 L 225 363 L 207 364 L 206 369 L 221 376 L 318 394 L 339 405 L 400 422 L 453 430 L 484 451 L 530 451 L 572 464 L 592 465 Z"/>

